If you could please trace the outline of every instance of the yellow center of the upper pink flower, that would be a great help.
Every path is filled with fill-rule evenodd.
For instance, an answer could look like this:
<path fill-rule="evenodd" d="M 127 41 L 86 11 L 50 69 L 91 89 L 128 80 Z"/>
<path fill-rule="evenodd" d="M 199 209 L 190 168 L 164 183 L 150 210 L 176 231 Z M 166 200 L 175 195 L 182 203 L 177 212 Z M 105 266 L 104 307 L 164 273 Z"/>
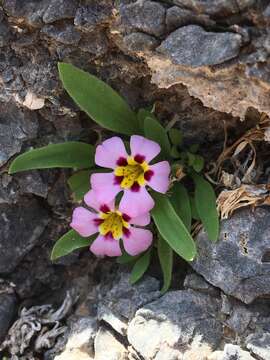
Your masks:
<path fill-rule="evenodd" d="M 151 170 L 149 170 L 149 165 L 143 158 L 136 159 L 136 156 L 135 158 L 129 156 L 127 159 L 122 159 L 121 162 L 123 165 L 116 167 L 114 175 L 122 189 L 130 189 L 134 185 L 144 186 L 146 184 L 145 173 Z"/>

